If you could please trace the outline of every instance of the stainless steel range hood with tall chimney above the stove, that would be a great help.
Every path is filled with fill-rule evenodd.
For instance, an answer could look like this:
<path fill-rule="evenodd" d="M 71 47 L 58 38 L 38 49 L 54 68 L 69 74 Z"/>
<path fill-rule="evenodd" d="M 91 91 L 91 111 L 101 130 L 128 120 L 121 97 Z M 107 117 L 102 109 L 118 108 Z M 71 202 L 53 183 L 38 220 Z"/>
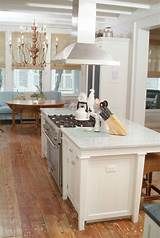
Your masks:
<path fill-rule="evenodd" d="M 119 65 L 95 44 L 96 2 L 93 0 L 73 0 L 73 35 L 77 42 L 68 45 L 55 55 L 54 64 Z"/>

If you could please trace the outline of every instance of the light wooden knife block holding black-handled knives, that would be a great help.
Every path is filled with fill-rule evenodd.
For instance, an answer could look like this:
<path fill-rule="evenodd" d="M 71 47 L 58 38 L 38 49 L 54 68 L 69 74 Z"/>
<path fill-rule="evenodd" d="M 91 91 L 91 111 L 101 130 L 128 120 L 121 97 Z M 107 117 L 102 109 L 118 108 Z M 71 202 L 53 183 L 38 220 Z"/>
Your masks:
<path fill-rule="evenodd" d="M 103 101 L 100 103 L 100 116 L 105 121 L 106 129 L 109 128 L 109 133 L 112 135 L 127 135 L 127 130 L 118 120 L 118 118 L 109 110 L 108 102 Z"/>

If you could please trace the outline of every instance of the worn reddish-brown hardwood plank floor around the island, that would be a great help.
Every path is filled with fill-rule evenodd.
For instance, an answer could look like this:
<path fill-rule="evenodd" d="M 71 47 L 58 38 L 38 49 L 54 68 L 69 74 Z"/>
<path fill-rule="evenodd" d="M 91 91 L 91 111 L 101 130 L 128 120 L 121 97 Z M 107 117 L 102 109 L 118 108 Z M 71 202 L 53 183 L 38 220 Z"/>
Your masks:
<path fill-rule="evenodd" d="M 108 221 L 77 231 L 77 214 L 62 200 L 41 159 L 39 132 L 22 127 L 3 126 L 0 136 L 0 238 L 142 237 L 143 211 L 138 224 Z"/>

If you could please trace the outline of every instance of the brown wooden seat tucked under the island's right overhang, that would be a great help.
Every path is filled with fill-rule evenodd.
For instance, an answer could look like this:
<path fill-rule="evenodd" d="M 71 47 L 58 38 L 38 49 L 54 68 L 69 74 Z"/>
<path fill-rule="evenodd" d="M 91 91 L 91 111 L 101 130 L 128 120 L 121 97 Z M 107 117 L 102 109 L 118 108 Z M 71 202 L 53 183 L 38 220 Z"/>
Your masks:
<path fill-rule="evenodd" d="M 144 200 L 160 199 L 160 189 L 152 181 L 153 172 L 160 171 L 160 153 L 149 153 L 145 157 L 143 187 L 146 192 L 142 193 Z M 152 191 L 155 194 L 152 194 Z"/>

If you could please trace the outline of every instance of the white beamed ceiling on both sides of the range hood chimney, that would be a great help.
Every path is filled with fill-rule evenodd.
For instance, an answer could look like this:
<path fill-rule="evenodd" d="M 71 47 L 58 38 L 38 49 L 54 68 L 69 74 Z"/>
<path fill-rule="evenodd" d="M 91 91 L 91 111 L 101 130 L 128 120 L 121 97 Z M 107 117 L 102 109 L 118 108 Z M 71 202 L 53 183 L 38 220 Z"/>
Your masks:
<path fill-rule="evenodd" d="M 146 11 L 160 0 L 93 0 L 97 2 L 97 22 L 108 22 L 137 9 Z M 0 0 L 0 22 L 39 23 L 71 27 L 72 0 Z"/>

